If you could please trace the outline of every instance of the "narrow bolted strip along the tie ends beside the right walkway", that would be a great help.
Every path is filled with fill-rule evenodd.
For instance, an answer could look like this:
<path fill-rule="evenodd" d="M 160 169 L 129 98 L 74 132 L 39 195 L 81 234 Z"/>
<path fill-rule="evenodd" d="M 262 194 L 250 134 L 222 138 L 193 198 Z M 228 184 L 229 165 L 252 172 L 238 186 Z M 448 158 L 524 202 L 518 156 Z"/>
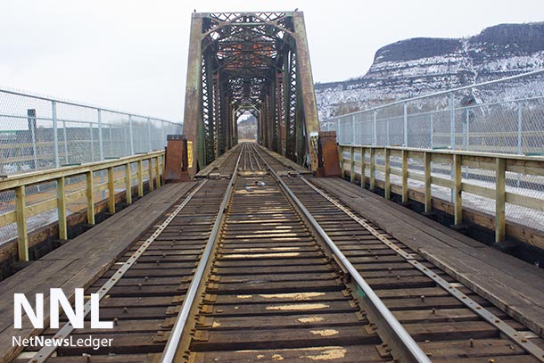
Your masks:
<path fill-rule="evenodd" d="M 327 201 L 334 204 L 339 210 L 342 210 L 346 213 L 351 219 L 356 221 L 361 227 L 367 229 L 372 235 L 374 235 L 380 242 L 389 247 L 393 252 L 397 253 L 402 257 L 406 262 L 408 262 L 413 267 L 421 271 L 425 276 L 431 278 L 437 285 L 440 285 L 446 292 L 451 296 L 455 297 L 458 301 L 463 303 L 467 309 L 471 309 L 476 315 L 483 318 L 485 321 L 490 323 L 490 325 L 495 326 L 502 334 L 507 335 L 512 341 L 517 343 L 523 351 L 528 352 L 534 358 L 544 363 L 544 350 L 540 348 L 534 342 L 529 341 L 523 334 L 523 332 L 515 330 L 512 326 L 509 326 L 507 322 L 503 321 L 501 318 L 493 314 L 489 309 L 486 309 L 478 302 L 471 299 L 466 293 L 463 293 L 459 290 L 457 284 L 450 284 L 441 276 L 437 275 L 432 269 L 425 268 L 422 263 L 419 263 L 415 260 L 415 256 L 411 253 L 405 252 L 400 249 L 395 243 L 392 243 L 385 235 L 382 235 L 375 228 L 371 227 L 366 219 L 360 219 L 355 213 L 351 212 L 349 209 L 344 207 L 340 202 L 334 200 L 329 194 L 323 191 L 321 188 L 314 186 L 307 180 L 305 177 L 301 177 L 301 180 L 306 183 L 310 188 L 315 190 L 318 194 L 321 194 Z"/>

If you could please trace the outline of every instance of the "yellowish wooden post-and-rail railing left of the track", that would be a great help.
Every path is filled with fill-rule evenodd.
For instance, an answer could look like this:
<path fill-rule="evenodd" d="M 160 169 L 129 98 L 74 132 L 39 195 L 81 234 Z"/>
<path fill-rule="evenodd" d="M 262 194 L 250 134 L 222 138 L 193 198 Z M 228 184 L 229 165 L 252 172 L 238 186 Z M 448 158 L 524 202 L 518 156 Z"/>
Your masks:
<path fill-rule="evenodd" d="M 154 185 L 161 186 L 161 176 L 164 167 L 164 151 L 140 153 L 115 160 L 98 161 L 82 165 L 67 166 L 59 169 L 48 169 L 20 175 L 3 177 L 0 179 L 0 193 L 14 191 L 14 210 L 0 212 L 0 228 L 17 223 L 17 243 L 19 260 L 29 260 L 29 232 L 27 220 L 48 210 L 58 210 L 59 239 L 68 238 L 66 205 L 83 198 L 87 201 L 87 223 L 95 224 L 95 194 L 108 191 L 107 201 L 110 213 L 115 213 L 116 187 L 126 191 L 126 202 L 132 203 L 132 181 L 137 181 L 137 194 L 144 195 L 144 172 L 149 175 L 149 189 Z M 147 169 L 144 169 L 147 161 Z M 131 166 L 136 164 L 136 172 Z M 123 168 L 124 172 L 114 169 Z M 107 173 L 105 177 L 96 177 L 95 173 Z M 69 177 L 85 177 L 85 183 L 67 185 Z M 153 183 L 154 181 L 154 183 Z M 56 182 L 55 191 L 49 191 L 38 198 L 39 201 L 28 204 L 29 195 L 26 188 L 29 186 L 45 185 Z M 12 208 L 13 209 L 13 208 Z"/>

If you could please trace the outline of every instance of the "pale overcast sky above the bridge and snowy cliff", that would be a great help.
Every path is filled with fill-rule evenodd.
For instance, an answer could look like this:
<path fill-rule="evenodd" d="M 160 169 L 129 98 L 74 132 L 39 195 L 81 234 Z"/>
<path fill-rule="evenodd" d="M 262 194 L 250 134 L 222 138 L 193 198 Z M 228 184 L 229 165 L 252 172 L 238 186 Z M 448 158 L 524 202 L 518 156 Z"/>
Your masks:
<path fill-rule="evenodd" d="M 297 7 L 317 82 L 363 75 L 401 39 L 544 21 L 542 0 L 1 0 L 0 86 L 180 121 L 194 9 Z"/>

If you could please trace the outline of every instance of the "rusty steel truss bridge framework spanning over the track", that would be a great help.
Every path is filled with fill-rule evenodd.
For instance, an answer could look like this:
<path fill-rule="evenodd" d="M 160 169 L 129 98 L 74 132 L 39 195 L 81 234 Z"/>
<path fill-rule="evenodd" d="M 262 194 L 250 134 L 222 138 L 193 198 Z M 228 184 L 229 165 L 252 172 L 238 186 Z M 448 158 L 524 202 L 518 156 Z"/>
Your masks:
<path fill-rule="evenodd" d="M 236 120 L 258 120 L 258 142 L 317 169 L 319 131 L 302 12 L 194 12 L 184 133 L 194 174 L 237 143 Z"/>

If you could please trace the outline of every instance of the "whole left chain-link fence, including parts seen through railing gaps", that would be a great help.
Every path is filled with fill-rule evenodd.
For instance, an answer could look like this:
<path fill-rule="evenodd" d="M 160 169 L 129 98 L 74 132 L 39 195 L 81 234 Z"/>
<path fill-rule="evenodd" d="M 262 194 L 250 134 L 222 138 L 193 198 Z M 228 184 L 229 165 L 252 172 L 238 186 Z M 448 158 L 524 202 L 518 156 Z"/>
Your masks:
<path fill-rule="evenodd" d="M 167 135 L 181 133 L 181 123 L 0 89 L 0 177 L 161 150 Z M 143 164 L 148 170 L 149 161 Z M 136 163 L 131 169 L 136 172 Z M 122 168 L 114 171 L 124 175 Z M 145 172 L 144 180 L 148 179 Z M 96 184 L 106 180 L 106 172 L 95 173 Z M 136 183 L 133 178 L 132 185 Z M 85 177 L 68 177 L 66 187 L 83 190 Z M 55 193 L 56 182 L 29 186 L 27 204 L 44 202 Z M 96 200 L 107 198 L 107 194 L 103 191 Z M 14 197 L 13 191 L 0 192 L 0 215 L 15 209 Z M 85 208 L 82 197 L 71 202 L 67 212 L 70 215 Z M 56 210 L 30 217 L 29 232 L 57 219 Z M 0 228 L 0 244 L 16 236 L 15 223 Z"/>

